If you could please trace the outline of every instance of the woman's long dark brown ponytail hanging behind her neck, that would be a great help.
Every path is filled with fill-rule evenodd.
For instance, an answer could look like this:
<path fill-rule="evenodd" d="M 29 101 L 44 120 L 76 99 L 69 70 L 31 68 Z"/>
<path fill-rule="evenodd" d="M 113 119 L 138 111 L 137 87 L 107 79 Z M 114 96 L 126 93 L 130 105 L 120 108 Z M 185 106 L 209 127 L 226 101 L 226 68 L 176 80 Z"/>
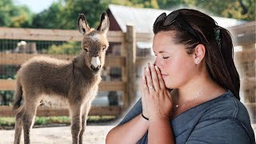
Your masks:
<path fill-rule="evenodd" d="M 230 90 L 240 100 L 240 78 L 234 66 L 234 47 L 231 34 L 221 26 L 216 26 L 214 33 L 214 38 L 206 38 L 207 70 L 218 85 Z"/>

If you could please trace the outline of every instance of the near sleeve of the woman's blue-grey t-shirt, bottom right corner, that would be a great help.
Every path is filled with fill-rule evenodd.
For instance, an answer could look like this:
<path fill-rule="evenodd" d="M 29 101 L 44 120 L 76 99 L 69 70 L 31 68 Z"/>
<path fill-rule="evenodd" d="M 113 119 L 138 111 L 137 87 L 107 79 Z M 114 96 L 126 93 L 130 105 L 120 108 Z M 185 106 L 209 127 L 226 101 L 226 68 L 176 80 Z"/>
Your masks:
<path fill-rule="evenodd" d="M 188 144 L 206 144 L 206 143 L 255 143 L 250 138 L 246 127 L 234 118 L 210 118 L 199 122 L 190 134 Z"/>

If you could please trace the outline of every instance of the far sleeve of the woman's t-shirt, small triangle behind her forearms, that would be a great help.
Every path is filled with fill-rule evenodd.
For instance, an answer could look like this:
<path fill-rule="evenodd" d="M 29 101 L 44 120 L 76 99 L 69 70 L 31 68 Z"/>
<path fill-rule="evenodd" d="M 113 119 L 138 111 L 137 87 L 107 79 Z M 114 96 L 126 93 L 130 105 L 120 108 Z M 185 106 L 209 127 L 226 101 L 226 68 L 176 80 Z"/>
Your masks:
<path fill-rule="evenodd" d="M 136 102 L 136 104 L 130 109 L 130 111 L 126 114 L 125 118 L 118 124 L 122 125 L 126 122 L 129 122 L 131 119 L 135 118 L 138 114 L 142 113 L 142 98 Z"/>

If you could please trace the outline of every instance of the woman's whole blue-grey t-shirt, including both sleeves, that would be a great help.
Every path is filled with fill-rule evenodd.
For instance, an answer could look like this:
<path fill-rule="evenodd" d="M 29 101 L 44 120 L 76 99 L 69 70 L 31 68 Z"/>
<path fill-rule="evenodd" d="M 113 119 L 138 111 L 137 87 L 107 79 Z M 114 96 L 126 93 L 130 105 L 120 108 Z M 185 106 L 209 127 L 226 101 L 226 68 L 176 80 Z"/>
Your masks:
<path fill-rule="evenodd" d="M 119 125 L 142 113 L 141 99 Z M 218 98 L 194 106 L 170 121 L 175 142 L 182 143 L 255 143 L 250 117 L 242 102 L 228 90 Z M 147 143 L 147 132 L 137 142 Z"/>

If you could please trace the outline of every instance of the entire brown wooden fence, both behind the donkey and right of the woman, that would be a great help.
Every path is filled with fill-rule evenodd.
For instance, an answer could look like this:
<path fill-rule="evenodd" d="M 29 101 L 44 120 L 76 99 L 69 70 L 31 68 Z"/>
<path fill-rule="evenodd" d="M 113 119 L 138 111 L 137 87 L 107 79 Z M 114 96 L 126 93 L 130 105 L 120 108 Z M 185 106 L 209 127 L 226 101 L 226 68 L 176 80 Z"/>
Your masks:
<path fill-rule="evenodd" d="M 255 34 L 256 22 L 248 22 L 241 26 L 230 27 L 229 30 L 234 38 L 234 46 L 241 46 L 241 51 L 234 53 L 234 62 L 238 67 L 238 73 L 241 77 L 241 92 L 244 98 L 244 104 L 250 111 L 251 118 L 255 122 Z M 110 114 L 118 115 L 122 110 L 134 102 L 136 90 L 135 69 L 145 62 L 153 61 L 153 57 L 136 58 L 135 42 L 150 42 L 152 34 L 136 33 L 134 26 L 127 26 L 127 32 L 110 31 L 107 34 L 109 42 L 121 43 L 121 56 L 106 57 L 106 66 L 118 66 L 122 68 L 121 82 L 101 82 L 99 90 L 121 90 L 123 91 L 123 106 L 93 107 L 90 114 Z M 42 30 L 42 29 L 18 29 L 0 27 L 0 39 L 22 39 L 38 41 L 81 41 L 78 30 Z M 28 58 L 36 54 L 4 54 L 0 53 L 0 65 L 20 65 L 26 62 Z M 70 55 L 49 55 L 53 58 L 71 59 Z M 249 67 L 250 66 L 250 69 Z M 253 67 L 251 67 L 253 66 Z M 135 85 L 134 85 L 135 84 Z M 0 79 L 0 90 L 14 90 L 14 80 Z M 67 111 L 58 111 L 58 109 L 40 108 L 38 112 L 41 115 L 67 115 Z M 8 112 L 9 111 L 9 112 Z M 54 112 L 55 111 L 55 112 Z M 10 107 L 0 106 L 0 116 L 12 116 L 14 112 Z"/>

